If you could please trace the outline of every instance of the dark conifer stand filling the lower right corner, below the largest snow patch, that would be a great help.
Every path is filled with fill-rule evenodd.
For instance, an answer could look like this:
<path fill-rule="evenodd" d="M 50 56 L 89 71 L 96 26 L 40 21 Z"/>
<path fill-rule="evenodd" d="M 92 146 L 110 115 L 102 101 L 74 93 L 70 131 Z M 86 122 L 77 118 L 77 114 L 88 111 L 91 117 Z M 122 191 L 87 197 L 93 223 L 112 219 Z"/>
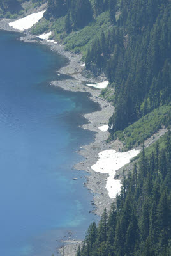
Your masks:
<path fill-rule="evenodd" d="M 170 255 L 170 136 L 169 131 L 151 151 L 143 148 L 138 165 L 123 180 L 117 207 L 103 212 L 97 228 L 89 227 L 78 255 Z"/>

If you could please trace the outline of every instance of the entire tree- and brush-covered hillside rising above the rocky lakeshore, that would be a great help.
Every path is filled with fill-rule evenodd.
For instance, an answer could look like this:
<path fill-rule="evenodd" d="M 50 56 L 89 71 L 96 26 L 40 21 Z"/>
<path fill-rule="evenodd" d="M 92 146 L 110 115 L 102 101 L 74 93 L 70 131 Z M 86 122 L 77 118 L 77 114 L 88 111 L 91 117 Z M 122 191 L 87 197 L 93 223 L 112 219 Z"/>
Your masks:
<path fill-rule="evenodd" d="M 1 1 L 1 16 L 20 17 L 23 3 L 15 3 L 13 12 L 10 0 Z M 89 227 L 77 256 L 171 255 L 170 0 L 30 3 L 47 3 L 32 35 L 52 31 L 50 39 L 82 54 L 86 79 L 103 75 L 109 81 L 101 90 L 101 97 L 115 107 L 106 142 L 119 141 L 123 152 L 142 147 L 132 159 L 134 167 L 123 172 L 115 204 L 110 212 L 104 210 L 98 225 Z M 144 148 L 144 141 L 160 129 L 168 131 Z"/>

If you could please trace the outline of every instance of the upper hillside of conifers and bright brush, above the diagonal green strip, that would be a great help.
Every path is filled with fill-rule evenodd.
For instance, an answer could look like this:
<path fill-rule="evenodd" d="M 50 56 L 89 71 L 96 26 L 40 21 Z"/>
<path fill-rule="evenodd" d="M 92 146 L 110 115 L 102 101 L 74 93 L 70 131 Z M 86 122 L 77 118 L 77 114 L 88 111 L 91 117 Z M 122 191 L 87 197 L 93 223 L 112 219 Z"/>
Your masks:
<path fill-rule="evenodd" d="M 49 0 L 45 19 L 32 29 L 35 34 L 52 30 L 66 50 L 82 52 L 85 74 L 105 73 L 110 84 L 102 95 L 110 94 L 115 106 L 110 140 L 170 105 L 169 11 L 168 0 Z"/>

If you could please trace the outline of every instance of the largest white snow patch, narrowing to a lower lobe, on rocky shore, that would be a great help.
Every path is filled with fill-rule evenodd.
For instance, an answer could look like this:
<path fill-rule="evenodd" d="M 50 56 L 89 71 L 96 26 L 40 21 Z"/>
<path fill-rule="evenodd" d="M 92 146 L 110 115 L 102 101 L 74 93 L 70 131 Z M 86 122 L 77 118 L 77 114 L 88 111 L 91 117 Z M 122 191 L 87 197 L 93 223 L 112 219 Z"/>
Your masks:
<path fill-rule="evenodd" d="M 116 152 L 115 150 L 105 150 L 99 153 L 96 164 L 91 166 L 95 172 L 108 173 L 106 188 L 108 196 L 115 198 L 121 189 L 121 180 L 115 180 L 116 171 L 130 162 L 130 159 L 137 156 L 140 150 L 130 150 L 127 152 Z"/>

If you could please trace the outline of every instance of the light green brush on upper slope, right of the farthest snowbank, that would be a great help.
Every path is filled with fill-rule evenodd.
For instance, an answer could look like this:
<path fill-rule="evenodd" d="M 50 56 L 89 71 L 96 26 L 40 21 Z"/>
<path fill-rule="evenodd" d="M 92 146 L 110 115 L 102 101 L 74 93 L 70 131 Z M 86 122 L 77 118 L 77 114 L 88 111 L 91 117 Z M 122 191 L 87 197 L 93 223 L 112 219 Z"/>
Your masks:
<path fill-rule="evenodd" d="M 85 26 L 79 31 L 73 31 L 67 34 L 64 31 L 65 17 L 61 17 L 55 21 L 48 22 L 42 20 L 31 30 L 33 34 L 43 33 L 47 30 L 54 31 L 55 39 L 63 42 L 64 49 L 73 52 L 82 52 L 87 50 L 87 46 L 91 44 L 96 36 L 101 35 L 101 31 L 107 31 L 110 26 L 110 18 L 108 12 L 101 13 L 90 25 Z"/>

